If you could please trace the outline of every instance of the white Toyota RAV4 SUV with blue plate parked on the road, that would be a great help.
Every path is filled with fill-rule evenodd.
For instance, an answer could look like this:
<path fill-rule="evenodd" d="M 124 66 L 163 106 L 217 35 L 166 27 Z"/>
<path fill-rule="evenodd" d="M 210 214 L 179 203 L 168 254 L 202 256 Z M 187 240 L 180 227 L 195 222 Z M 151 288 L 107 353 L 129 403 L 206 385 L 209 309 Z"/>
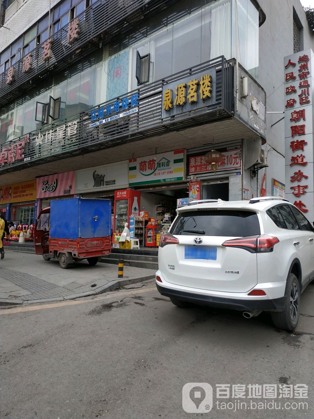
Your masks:
<path fill-rule="evenodd" d="M 173 304 L 271 311 L 293 330 L 300 294 L 314 279 L 314 228 L 286 199 L 220 199 L 177 209 L 160 238 L 156 285 Z"/>

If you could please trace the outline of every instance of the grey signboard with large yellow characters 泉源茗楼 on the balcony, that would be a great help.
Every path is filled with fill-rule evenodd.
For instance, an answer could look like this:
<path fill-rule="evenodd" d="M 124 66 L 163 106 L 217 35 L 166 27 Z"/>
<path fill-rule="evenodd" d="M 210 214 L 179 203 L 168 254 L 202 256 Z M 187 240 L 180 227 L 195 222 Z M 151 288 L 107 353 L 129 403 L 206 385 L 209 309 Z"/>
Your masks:
<path fill-rule="evenodd" d="M 162 118 L 216 102 L 216 69 L 210 68 L 162 88 Z"/>

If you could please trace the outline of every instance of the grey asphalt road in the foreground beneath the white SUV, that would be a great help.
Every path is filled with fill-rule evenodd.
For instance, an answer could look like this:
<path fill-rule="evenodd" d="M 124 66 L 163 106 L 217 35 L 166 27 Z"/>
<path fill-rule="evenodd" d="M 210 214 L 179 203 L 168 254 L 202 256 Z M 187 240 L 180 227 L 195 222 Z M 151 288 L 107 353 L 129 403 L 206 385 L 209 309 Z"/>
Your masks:
<path fill-rule="evenodd" d="M 276 330 L 265 313 L 248 320 L 233 311 L 177 308 L 154 282 L 94 300 L 0 310 L 0 417 L 313 418 L 313 301 L 309 285 L 293 334 Z M 210 412 L 183 410 L 186 383 L 213 387 Z M 279 385 L 299 383 L 309 386 L 308 398 L 235 399 L 232 390 L 216 398 L 218 384 L 275 384 L 279 393 Z M 196 390 L 189 393 L 195 406 L 208 396 Z M 282 404 L 234 411 L 239 400 Z M 217 402 L 233 405 L 224 410 Z M 308 409 L 282 408 L 286 402 Z"/>

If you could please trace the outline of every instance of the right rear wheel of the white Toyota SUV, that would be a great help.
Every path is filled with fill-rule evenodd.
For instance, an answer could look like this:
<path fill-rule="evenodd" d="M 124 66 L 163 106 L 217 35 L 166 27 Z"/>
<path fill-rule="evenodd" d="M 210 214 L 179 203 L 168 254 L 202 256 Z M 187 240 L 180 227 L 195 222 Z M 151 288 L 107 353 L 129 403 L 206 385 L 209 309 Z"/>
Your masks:
<path fill-rule="evenodd" d="M 271 313 L 276 327 L 291 331 L 296 328 L 300 313 L 300 285 L 294 274 L 289 274 L 287 279 L 285 307 L 283 311 Z"/>

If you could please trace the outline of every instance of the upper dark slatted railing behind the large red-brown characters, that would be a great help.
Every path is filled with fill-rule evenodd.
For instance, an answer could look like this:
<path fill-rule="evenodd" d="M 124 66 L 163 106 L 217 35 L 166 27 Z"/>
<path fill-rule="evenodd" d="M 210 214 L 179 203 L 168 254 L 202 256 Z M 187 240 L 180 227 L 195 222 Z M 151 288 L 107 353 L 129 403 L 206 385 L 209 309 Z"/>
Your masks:
<path fill-rule="evenodd" d="M 44 62 L 41 58 L 43 44 L 32 52 L 32 69 L 25 73 L 23 58 L 13 65 L 14 81 L 6 83 L 8 70 L 0 75 L 0 105 L 12 102 L 15 97 L 51 77 L 52 71 L 60 71 L 82 57 L 98 50 L 100 42 L 106 43 L 113 37 L 126 33 L 137 23 L 159 13 L 162 7 L 168 7 L 178 0 L 97 0 L 79 16 L 80 37 L 72 44 L 67 43 L 68 24 L 51 35 L 52 57 Z"/>

